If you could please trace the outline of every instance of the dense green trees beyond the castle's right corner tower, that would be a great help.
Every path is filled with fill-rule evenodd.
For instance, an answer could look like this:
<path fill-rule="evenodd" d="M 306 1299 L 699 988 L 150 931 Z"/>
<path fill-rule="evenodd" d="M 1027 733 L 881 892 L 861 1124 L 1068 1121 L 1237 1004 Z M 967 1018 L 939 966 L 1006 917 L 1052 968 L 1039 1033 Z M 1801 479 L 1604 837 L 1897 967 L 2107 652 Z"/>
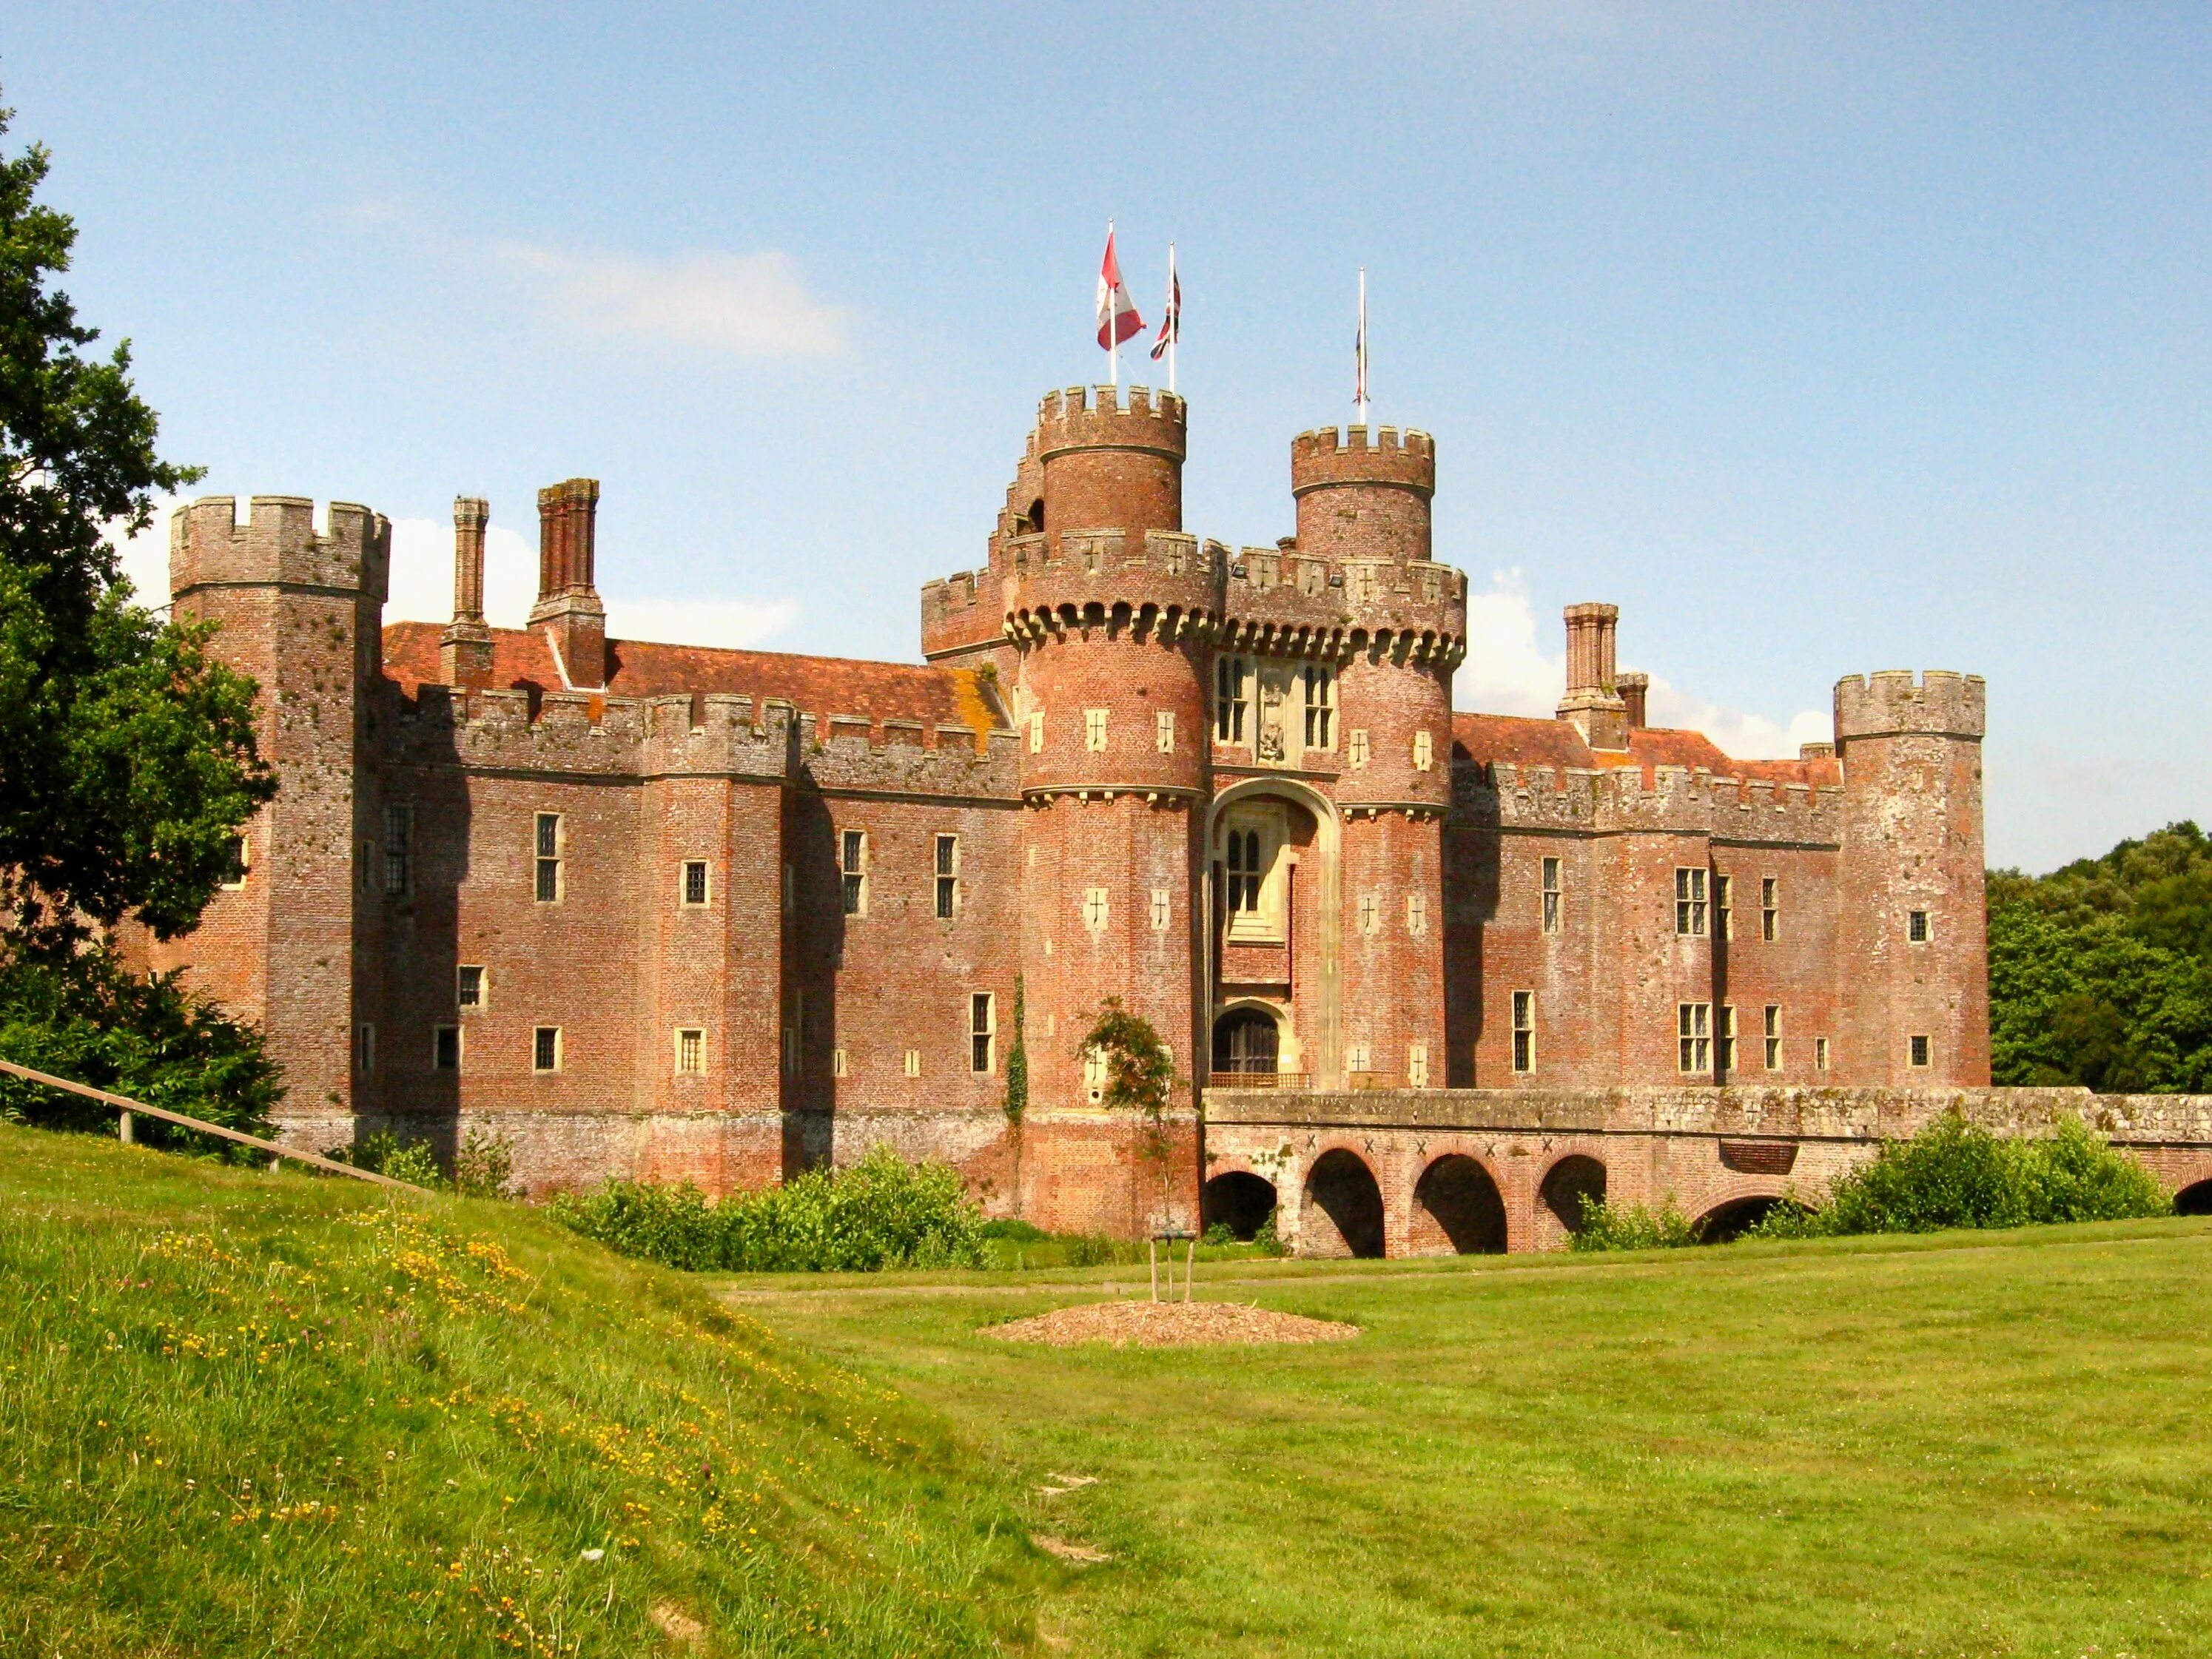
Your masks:
<path fill-rule="evenodd" d="M 2212 841 L 1989 872 L 1989 1040 L 1997 1084 L 2212 1091 Z"/>

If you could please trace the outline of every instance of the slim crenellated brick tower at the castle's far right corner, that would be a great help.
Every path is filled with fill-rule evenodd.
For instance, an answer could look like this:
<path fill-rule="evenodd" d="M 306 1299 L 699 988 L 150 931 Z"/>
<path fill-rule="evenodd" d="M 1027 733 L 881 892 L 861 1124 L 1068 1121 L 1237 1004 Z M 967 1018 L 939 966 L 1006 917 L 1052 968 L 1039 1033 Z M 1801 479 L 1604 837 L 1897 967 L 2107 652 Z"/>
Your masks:
<path fill-rule="evenodd" d="M 1989 1082 L 1980 675 L 1836 681 L 1838 1057 L 1856 1084 Z"/>

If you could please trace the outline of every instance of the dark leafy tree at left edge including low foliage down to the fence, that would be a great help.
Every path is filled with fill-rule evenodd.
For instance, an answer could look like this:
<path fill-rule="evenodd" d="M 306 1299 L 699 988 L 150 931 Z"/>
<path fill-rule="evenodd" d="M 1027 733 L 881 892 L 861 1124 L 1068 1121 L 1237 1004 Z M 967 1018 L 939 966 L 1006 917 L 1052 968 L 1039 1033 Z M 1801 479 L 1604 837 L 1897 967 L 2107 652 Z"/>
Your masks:
<path fill-rule="evenodd" d="M 0 153 L 0 1051 L 250 1126 L 279 1093 L 259 1037 L 173 975 L 135 978 L 100 936 L 188 931 L 276 781 L 252 679 L 117 568 L 108 533 L 144 531 L 155 491 L 199 471 L 155 453 L 128 343 L 88 352 L 97 330 L 55 288 L 77 230 L 38 201 L 44 179 L 44 148 Z M 80 1115 L 24 1084 L 0 1113 Z"/>

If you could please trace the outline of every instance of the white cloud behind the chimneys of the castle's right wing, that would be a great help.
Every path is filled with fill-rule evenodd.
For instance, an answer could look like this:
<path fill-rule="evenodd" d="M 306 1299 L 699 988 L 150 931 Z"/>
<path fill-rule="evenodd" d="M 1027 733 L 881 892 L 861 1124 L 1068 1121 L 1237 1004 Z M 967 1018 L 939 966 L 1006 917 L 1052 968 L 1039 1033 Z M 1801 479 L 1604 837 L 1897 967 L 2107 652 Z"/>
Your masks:
<path fill-rule="evenodd" d="M 1453 679 L 1453 706 L 1484 714 L 1551 714 L 1566 690 L 1564 630 L 1557 639 L 1559 653 L 1546 655 L 1522 573 L 1495 571 L 1489 593 L 1471 588 L 1467 595 L 1467 661 Z M 1646 712 L 1652 726 L 1703 732 L 1741 761 L 1794 759 L 1798 743 L 1825 743 L 1834 734 L 1827 710 L 1807 708 L 1776 721 L 1701 701 L 1659 675 L 1652 675 Z"/>

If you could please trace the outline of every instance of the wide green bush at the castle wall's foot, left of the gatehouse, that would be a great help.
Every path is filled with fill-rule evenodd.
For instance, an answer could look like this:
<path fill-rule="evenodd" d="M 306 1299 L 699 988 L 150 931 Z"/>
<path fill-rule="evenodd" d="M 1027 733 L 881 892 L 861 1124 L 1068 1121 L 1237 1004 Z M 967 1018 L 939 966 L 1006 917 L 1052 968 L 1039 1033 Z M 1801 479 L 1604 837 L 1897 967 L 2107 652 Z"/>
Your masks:
<path fill-rule="evenodd" d="M 847 1170 L 807 1170 L 721 1203 L 708 1203 L 690 1181 L 604 1181 L 586 1194 L 555 1197 L 553 1214 L 626 1256 L 692 1272 L 982 1265 L 984 1221 L 960 1172 L 907 1164 L 887 1146 Z"/>

